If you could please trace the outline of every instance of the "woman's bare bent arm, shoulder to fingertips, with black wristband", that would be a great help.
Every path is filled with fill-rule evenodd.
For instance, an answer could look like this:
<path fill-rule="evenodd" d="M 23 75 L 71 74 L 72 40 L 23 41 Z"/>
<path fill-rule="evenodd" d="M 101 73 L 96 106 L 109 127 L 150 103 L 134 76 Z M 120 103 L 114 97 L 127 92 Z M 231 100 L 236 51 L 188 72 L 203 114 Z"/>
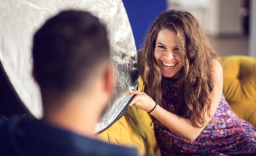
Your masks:
<path fill-rule="evenodd" d="M 213 60 L 211 62 L 211 74 L 213 74 L 213 92 L 211 94 L 211 117 L 214 115 L 219 101 L 221 99 L 221 94 L 223 90 L 223 69 L 221 64 L 217 60 Z M 131 94 L 137 94 L 135 98 L 131 101 L 131 105 L 139 107 L 145 111 L 150 111 L 154 106 L 155 102 L 150 98 L 146 93 L 139 91 L 130 91 Z M 156 106 L 154 111 L 150 113 L 150 115 L 154 116 L 158 121 L 160 121 L 163 125 L 169 128 L 175 134 L 181 136 L 182 138 L 186 138 L 187 140 L 193 141 L 195 140 L 199 134 L 202 132 L 203 127 L 194 127 L 189 119 L 184 117 L 179 117 L 169 111 L 163 109 L 161 106 Z M 205 113 L 205 125 L 209 123 L 211 117 Z"/>

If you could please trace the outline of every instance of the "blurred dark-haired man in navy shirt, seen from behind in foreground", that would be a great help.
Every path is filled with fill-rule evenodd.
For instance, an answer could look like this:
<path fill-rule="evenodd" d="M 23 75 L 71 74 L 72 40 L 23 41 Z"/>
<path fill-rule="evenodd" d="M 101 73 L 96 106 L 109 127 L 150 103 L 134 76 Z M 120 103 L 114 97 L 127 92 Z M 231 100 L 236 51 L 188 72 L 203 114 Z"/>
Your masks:
<path fill-rule="evenodd" d="M 66 10 L 47 20 L 33 38 L 43 118 L 2 120 L 1 155 L 137 155 L 93 138 L 112 97 L 112 72 L 107 31 L 98 18 Z"/>

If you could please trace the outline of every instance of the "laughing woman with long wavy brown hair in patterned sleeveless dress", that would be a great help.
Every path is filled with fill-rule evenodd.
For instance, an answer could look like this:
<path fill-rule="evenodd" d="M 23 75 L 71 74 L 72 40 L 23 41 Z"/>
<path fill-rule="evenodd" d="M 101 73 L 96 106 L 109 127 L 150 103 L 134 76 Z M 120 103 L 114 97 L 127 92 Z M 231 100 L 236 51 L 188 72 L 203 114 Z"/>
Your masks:
<path fill-rule="evenodd" d="M 226 102 L 223 68 L 190 12 L 156 18 L 139 66 L 144 92 L 131 90 L 130 105 L 152 116 L 161 155 L 256 155 L 256 129 Z"/>

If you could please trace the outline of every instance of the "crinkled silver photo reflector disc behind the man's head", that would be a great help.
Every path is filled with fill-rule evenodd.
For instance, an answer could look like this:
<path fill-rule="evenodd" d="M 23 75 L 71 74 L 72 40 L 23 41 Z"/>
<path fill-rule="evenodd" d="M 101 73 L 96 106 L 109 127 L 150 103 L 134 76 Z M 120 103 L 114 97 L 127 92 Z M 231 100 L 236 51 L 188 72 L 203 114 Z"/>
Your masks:
<path fill-rule="evenodd" d="M 110 106 L 95 132 L 109 127 L 127 109 L 137 88 L 137 52 L 133 33 L 121 0 L 1 0 L 0 60 L 18 98 L 37 118 L 42 117 L 39 87 L 32 77 L 33 33 L 63 9 L 88 10 L 106 23 L 115 69 L 115 89 Z"/>

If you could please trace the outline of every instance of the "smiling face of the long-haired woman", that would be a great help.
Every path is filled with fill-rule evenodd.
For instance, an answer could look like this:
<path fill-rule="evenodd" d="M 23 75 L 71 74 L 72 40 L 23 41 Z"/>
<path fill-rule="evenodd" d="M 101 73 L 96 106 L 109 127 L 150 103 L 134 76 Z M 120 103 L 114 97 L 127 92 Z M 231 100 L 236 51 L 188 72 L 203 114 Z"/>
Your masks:
<path fill-rule="evenodd" d="M 177 33 L 168 29 L 159 31 L 154 57 L 163 77 L 177 78 L 183 66 L 177 43 Z"/>

